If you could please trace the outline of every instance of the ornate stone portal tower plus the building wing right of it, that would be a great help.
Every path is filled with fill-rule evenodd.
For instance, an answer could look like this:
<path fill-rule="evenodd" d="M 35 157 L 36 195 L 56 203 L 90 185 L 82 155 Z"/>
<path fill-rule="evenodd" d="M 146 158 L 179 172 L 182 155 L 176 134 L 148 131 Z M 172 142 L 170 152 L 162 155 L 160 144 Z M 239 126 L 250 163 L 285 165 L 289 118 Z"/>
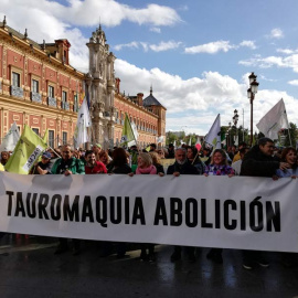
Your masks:
<path fill-rule="evenodd" d="M 120 92 L 120 79 L 115 77 L 116 56 L 109 52 L 102 26 L 93 32 L 89 42 L 89 72 L 86 75 L 87 92 L 93 117 L 93 141 L 105 148 L 117 146 L 121 139 L 125 114 L 136 124 L 138 145 L 146 147 L 160 138 L 166 145 L 166 108 L 150 95 L 126 96 Z"/>

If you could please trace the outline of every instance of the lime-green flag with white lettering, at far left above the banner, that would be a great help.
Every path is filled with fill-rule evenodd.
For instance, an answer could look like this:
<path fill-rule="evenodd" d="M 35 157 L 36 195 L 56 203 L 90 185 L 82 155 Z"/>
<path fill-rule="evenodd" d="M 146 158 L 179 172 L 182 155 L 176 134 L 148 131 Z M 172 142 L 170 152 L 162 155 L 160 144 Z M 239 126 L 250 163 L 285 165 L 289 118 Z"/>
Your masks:
<path fill-rule="evenodd" d="M 47 145 L 29 127 L 24 126 L 14 151 L 6 164 L 8 172 L 28 174 Z"/>

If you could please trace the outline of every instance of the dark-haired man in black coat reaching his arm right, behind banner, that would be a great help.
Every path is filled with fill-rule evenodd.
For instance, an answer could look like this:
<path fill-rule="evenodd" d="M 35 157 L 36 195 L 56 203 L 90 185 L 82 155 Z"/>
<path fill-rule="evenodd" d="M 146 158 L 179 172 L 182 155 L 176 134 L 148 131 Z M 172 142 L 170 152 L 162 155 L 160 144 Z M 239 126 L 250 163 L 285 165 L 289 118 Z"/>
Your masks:
<path fill-rule="evenodd" d="M 273 157 L 274 142 L 269 138 L 260 138 L 243 158 L 241 175 L 273 178 L 278 169 L 286 171 L 290 168 L 288 162 L 276 161 Z M 243 251 L 243 268 L 252 270 L 258 264 L 268 267 L 269 263 L 259 251 Z"/>

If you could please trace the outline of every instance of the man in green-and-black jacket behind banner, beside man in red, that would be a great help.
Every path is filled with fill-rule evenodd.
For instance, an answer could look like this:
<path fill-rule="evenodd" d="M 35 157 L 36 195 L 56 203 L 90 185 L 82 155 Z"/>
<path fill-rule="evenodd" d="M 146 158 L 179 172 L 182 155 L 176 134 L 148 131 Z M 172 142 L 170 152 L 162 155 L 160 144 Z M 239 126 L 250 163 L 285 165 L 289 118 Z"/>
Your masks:
<path fill-rule="evenodd" d="M 72 148 L 71 145 L 63 145 L 61 148 L 62 158 L 58 158 L 51 172 L 53 174 L 85 174 L 85 166 L 84 163 L 74 157 L 72 157 Z M 60 255 L 68 251 L 67 238 L 58 238 L 58 246 L 55 251 L 55 255 Z M 81 254 L 81 243 L 79 240 L 73 240 L 73 255 Z"/>

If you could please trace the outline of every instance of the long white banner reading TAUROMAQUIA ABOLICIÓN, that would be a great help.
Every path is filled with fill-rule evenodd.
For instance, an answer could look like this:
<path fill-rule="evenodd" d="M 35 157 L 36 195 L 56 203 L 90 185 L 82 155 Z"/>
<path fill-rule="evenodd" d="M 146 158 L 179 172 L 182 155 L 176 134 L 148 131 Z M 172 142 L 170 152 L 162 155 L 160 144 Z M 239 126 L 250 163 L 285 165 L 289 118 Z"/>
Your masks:
<path fill-rule="evenodd" d="M 298 252 L 298 180 L 0 172 L 0 231 Z"/>

